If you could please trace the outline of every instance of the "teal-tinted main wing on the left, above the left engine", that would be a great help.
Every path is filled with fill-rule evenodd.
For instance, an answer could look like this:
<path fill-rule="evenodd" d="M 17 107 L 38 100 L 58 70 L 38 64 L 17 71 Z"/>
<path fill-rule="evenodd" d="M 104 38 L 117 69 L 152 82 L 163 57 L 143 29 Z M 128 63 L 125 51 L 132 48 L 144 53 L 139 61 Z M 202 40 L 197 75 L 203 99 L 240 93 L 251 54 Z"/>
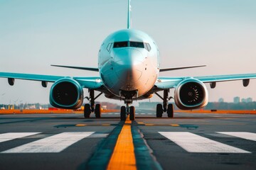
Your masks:
<path fill-rule="evenodd" d="M 9 73 L 9 72 L 0 72 L 0 77 L 7 78 L 10 81 L 13 81 L 13 83 L 14 83 L 14 79 L 55 82 L 63 78 L 72 78 L 78 81 L 78 83 L 83 88 L 87 88 L 87 89 L 100 89 L 100 87 L 103 85 L 100 77 L 60 77 L 60 76 L 50 76 L 50 75 L 41 75 L 41 74 L 21 74 L 21 73 Z"/>

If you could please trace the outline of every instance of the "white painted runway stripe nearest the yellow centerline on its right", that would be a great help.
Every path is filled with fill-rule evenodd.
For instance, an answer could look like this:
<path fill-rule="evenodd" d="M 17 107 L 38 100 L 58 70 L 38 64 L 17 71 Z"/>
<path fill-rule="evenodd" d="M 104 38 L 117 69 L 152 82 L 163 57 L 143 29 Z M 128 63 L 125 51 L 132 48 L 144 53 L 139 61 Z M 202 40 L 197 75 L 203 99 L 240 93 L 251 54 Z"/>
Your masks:
<path fill-rule="evenodd" d="M 194 153 L 251 153 L 243 149 L 231 147 L 191 132 L 159 132 L 164 137 L 175 142 L 187 152 Z"/>

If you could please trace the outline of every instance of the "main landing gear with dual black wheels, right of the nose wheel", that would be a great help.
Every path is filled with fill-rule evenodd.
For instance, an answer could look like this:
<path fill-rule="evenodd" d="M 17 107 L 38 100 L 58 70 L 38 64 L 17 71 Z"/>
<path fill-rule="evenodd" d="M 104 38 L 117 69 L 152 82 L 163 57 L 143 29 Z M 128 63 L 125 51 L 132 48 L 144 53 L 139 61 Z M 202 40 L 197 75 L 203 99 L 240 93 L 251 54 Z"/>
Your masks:
<path fill-rule="evenodd" d="M 163 105 L 157 104 L 156 106 L 156 118 L 161 118 L 164 112 L 167 113 L 168 118 L 174 118 L 174 105 L 168 104 L 168 101 L 172 98 L 168 96 L 169 90 L 164 90 L 164 97 L 160 96 L 157 93 L 155 94 L 163 100 Z"/>

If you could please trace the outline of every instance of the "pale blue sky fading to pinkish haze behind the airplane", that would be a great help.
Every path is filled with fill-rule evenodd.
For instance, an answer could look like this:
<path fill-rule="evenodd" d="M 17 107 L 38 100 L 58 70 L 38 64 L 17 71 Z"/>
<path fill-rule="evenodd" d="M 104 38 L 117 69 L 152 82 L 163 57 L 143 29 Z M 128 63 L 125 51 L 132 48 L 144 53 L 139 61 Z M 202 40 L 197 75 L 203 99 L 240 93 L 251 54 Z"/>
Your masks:
<path fill-rule="evenodd" d="M 132 0 L 132 28 L 154 38 L 161 67 L 207 65 L 159 76 L 256 73 L 255 8 L 255 0 Z M 102 41 L 126 27 L 127 0 L 0 0 L 0 72 L 98 76 L 50 64 L 97 67 Z M 43 88 L 39 81 L 16 79 L 9 86 L 1 78 L 0 86 L 0 103 L 49 103 L 51 84 Z M 209 101 L 232 102 L 235 96 L 256 101 L 256 80 L 247 88 L 242 81 L 207 88 Z"/>

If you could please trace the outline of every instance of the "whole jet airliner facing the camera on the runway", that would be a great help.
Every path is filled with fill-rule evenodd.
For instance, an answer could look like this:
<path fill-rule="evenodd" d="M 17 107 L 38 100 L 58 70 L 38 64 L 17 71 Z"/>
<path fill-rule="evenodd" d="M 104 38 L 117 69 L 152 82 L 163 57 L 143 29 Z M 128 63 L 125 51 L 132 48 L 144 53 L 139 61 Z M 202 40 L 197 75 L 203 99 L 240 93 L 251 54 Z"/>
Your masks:
<path fill-rule="evenodd" d="M 91 113 L 95 113 L 96 118 L 101 118 L 100 104 L 95 105 L 95 100 L 105 94 L 106 98 L 124 101 L 126 106 L 120 109 L 121 120 L 126 120 L 127 115 L 129 120 L 135 120 L 132 102 L 151 98 L 154 94 L 163 101 L 156 106 L 156 117 L 161 118 L 163 113 L 167 113 L 169 118 L 174 118 L 174 106 L 169 103 L 171 98 L 174 98 L 174 103 L 181 110 L 203 108 L 208 103 L 207 83 L 212 89 L 220 81 L 242 80 L 243 86 L 248 86 L 250 79 L 256 78 L 256 74 L 159 77 L 160 72 L 205 67 L 161 68 L 159 59 L 156 42 L 143 31 L 131 28 L 131 0 L 128 0 L 127 28 L 117 30 L 103 40 L 98 53 L 98 67 L 52 65 L 98 72 L 99 77 L 60 77 L 10 72 L 0 72 L 0 77 L 7 78 L 11 86 L 14 86 L 15 79 L 41 81 L 43 87 L 52 82 L 49 100 L 56 108 L 78 109 L 87 98 L 90 103 L 85 103 L 85 118 L 90 118 Z M 83 89 L 88 89 L 89 96 L 84 98 Z M 170 89 L 175 89 L 174 97 L 169 96 Z M 95 96 L 95 91 L 100 94 Z M 163 96 L 159 91 L 164 91 Z"/>

